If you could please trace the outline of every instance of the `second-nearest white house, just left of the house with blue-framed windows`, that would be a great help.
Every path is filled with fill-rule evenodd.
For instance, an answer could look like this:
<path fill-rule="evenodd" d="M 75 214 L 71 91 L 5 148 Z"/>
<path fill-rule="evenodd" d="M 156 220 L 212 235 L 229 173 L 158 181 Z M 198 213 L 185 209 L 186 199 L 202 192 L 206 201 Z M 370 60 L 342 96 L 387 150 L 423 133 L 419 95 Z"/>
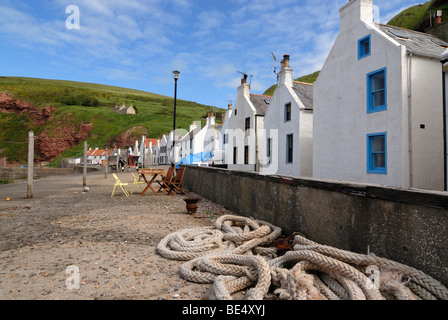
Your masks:
<path fill-rule="evenodd" d="M 266 160 L 262 172 L 295 177 L 313 174 L 313 85 L 295 82 L 285 55 L 264 118 Z"/>

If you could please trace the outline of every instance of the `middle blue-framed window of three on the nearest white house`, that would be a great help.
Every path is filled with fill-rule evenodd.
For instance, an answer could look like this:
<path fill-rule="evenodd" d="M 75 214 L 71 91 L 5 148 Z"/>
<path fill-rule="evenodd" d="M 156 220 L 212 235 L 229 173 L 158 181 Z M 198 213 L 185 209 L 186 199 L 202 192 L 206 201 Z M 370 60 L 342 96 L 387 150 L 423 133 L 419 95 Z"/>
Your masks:
<path fill-rule="evenodd" d="M 367 113 L 387 110 L 387 73 L 381 69 L 367 75 Z"/>

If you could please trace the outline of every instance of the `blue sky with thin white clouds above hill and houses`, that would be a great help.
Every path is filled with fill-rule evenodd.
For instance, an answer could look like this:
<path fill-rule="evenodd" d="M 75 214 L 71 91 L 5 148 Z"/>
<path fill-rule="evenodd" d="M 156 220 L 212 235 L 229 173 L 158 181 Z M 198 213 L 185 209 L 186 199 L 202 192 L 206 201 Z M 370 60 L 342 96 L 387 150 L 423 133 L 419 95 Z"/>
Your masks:
<path fill-rule="evenodd" d="M 251 93 L 320 70 L 347 0 L 0 0 L 0 76 L 72 80 L 227 108 L 241 74 Z M 374 0 L 380 23 L 424 0 Z M 75 6 L 75 7 L 73 7 Z M 73 9 L 75 8 L 75 9 Z M 272 54 L 273 53 L 273 54 Z M 273 56 L 277 58 L 275 62 Z"/>

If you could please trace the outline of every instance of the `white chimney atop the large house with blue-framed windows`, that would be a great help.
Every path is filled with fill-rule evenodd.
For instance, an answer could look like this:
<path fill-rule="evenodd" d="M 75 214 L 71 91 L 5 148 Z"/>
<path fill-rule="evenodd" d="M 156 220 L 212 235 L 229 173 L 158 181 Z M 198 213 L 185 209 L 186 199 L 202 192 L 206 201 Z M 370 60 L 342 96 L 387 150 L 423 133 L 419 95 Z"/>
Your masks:
<path fill-rule="evenodd" d="M 355 29 L 357 23 L 373 24 L 373 0 L 350 0 L 339 9 L 340 29 Z"/>

